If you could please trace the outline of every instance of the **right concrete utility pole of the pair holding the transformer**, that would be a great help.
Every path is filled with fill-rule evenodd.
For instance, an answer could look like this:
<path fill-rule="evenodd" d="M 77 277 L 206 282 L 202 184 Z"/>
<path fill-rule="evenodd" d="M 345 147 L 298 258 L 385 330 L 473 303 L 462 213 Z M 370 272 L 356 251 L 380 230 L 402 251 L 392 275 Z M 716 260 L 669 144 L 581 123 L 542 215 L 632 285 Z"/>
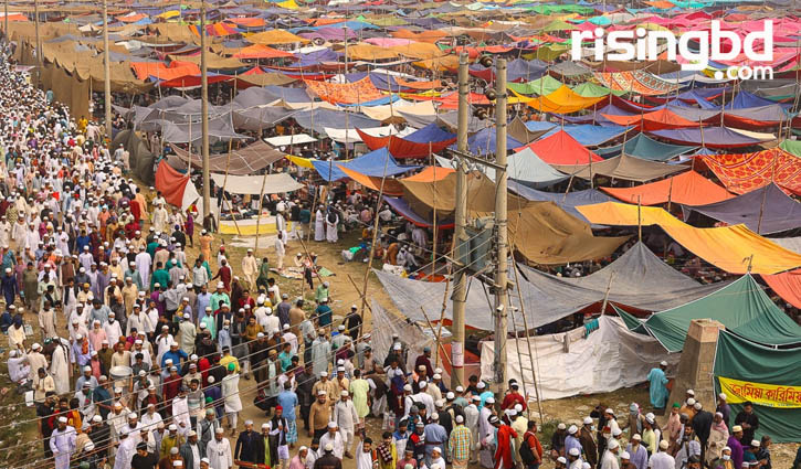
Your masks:
<path fill-rule="evenodd" d="M 495 230 L 496 270 L 495 270 L 495 384 L 503 393 L 506 386 L 506 316 L 509 310 L 509 296 L 507 290 L 508 246 L 507 246 L 507 215 L 506 215 L 506 60 L 498 58 L 495 65 Z"/>

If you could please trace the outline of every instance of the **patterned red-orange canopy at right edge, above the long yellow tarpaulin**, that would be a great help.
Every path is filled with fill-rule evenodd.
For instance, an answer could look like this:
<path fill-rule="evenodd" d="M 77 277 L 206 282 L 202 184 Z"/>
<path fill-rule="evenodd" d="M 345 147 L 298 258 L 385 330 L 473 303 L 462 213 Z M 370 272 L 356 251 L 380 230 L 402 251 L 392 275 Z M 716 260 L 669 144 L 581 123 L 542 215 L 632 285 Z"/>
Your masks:
<path fill-rule="evenodd" d="M 781 148 L 753 153 L 705 154 L 704 162 L 736 194 L 753 191 L 771 181 L 801 194 L 801 158 Z"/>

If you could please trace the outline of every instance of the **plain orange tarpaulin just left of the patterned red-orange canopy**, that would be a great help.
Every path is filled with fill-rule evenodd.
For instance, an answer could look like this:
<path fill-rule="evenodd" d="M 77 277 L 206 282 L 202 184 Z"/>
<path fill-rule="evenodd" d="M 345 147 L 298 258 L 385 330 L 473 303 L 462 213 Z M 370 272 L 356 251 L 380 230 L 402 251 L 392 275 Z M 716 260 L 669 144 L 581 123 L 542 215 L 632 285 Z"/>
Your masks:
<path fill-rule="evenodd" d="M 599 189 L 623 202 L 633 204 L 640 202 L 643 205 L 656 205 L 668 201 L 684 205 L 706 205 L 734 198 L 726 189 L 695 171 L 636 188 Z"/>

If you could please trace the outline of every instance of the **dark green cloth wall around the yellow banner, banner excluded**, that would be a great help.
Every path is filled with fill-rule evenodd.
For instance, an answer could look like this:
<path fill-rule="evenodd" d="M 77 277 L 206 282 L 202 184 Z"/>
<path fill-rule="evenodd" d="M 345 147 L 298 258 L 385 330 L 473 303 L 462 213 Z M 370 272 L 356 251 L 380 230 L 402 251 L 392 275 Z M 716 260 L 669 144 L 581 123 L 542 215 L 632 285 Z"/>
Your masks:
<path fill-rule="evenodd" d="M 730 332 L 721 332 L 715 353 L 715 393 L 720 392 L 719 376 L 751 383 L 801 386 L 801 349 L 772 349 L 749 342 Z M 731 422 L 742 407 L 730 404 Z M 801 440 L 801 408 L 755 405 L 759 416 L 757 438 L 770 435 L 774 443 Z"/>

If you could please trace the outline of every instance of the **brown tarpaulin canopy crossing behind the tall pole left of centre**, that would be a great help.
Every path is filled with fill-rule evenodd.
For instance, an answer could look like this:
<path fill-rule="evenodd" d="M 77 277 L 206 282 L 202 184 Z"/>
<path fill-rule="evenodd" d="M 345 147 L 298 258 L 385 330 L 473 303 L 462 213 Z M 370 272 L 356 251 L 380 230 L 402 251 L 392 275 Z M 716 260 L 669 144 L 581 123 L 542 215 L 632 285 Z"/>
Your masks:
<path fill-rule="evenodd" d="M 170 158 L 170 166 L 185 170 L 187 161 L 190 160 L 190 153 L 178 147 L 172 147 L 172 151 L 177 157 Z M 233 175 L 247 175 L 260 171 L 270 164 L 284 158 L 286 153 L 278 151 L 270 145 L 256 140 L 247 147 L 233 150 L 231 153 L 211 154 L 209 156 L 209 170 L 211 172 L 228 172 Z M 191 154 L 191 164 L 196 169 L 203 168 L 203 158 L 201 154 Z"/>

